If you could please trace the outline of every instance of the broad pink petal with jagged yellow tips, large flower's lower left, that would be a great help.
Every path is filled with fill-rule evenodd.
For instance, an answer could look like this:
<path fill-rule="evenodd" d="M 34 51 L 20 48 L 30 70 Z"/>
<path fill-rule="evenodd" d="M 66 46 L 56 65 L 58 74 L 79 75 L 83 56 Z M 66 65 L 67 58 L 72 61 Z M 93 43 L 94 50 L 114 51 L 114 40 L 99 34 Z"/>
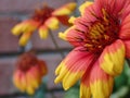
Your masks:
<path fill-rule="evenodd" d="M 93 59 L 94 54 L 82 52 L 80 48 L 74 49 L 56 69 L 58 76 L 55 83 L 63 82 L 63 87 L 68 89 L 83 75 Z"/>

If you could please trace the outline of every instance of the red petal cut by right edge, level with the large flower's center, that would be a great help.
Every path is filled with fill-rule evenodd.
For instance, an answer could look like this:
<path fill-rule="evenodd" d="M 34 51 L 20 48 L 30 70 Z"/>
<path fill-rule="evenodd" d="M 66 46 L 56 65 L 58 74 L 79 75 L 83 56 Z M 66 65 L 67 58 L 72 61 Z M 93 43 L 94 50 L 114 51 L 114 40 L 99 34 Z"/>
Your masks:
<path fill-rule="evenodd" d="M 121 39 L 130 39 L 130 14 L 121 23 L 119 37 Z"/>

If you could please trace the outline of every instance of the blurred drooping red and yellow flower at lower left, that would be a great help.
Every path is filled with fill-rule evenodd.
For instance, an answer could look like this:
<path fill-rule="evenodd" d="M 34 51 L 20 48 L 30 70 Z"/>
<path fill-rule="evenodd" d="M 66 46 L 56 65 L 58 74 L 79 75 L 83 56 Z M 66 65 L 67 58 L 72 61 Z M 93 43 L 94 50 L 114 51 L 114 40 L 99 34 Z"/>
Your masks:
<path fill-rule="evenodd" d="M 13 83 L 21 91 L 32 95 L 47 72 L 44 61 L 38 60 L 32 53 L 24 53 L 17 60 Z"/>

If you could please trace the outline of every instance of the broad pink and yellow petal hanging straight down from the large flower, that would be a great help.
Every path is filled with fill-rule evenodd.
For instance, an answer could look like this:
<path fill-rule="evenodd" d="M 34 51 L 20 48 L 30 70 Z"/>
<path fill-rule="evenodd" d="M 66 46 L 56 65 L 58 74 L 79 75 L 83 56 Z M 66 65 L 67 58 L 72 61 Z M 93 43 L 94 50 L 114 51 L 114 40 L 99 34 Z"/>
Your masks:
<path fill-rule="evenodd" d="M 90 87 L 93 98 L 109 98 L 113 91 L 114 77 L 106 74 L 99 61 L 92 66 L 90 74 Z"/>

